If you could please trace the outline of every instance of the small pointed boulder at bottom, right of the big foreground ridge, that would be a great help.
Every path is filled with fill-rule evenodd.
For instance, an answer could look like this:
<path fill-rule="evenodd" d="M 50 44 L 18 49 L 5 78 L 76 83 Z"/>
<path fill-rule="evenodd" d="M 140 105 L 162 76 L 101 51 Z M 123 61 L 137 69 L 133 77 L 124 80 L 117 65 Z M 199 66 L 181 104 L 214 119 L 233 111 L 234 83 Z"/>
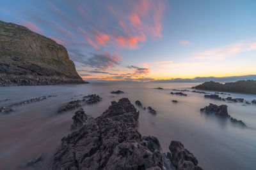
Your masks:
<path fill-rule="evenodd" d="M 186 150 L 179 141 L 172 141 L 169 150 L 172 154 L 169 153 L 167 156 L 172 158 L 173 166 L 177 169 L 202 169 L 197 166 L 198 161 L 193 153 Z"/>

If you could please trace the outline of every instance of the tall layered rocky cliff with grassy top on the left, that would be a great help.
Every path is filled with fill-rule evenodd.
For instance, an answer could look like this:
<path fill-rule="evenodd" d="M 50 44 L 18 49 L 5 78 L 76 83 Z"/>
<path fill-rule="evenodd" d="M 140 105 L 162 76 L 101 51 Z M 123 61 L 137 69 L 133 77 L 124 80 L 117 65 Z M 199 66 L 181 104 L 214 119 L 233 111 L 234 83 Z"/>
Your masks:
<path fill-rule="evenodd" d="M 84 83 L 64 46 L 0 21 L 0 86 Z"/>

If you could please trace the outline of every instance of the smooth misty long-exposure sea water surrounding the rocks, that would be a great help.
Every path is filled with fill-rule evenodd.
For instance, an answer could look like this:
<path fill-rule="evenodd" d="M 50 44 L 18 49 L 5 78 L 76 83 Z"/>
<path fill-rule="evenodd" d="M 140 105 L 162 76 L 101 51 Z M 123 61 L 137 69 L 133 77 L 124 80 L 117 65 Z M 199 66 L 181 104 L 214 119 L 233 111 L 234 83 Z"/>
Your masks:
<path fill-rule="evenodd" d="M 91 106 L 84 105 L 86 114 L 98 117 L 110 102 L 128 97 L 132 103 L 140 100 L 143 106 L 151 106 L 157 115 L 140 110 L 138 130 L 143 135 L 156 136 L 163 151 L 168 151 L 171 140 L 181 141 L 204 169 L 256 169 L 256 104 L 242 106 L 205 99 L 204 94 L 184 92 L 187 97 L 170 95 L 171 89 L 189 89 L 196 83 L 92 83 L 88 85 L 0 87 L 0 107 L 9 104 L 57 94 L 44 101 L 13 107 L 14 112 L 0 115 L 0 169 L 17 169 L 29 159 L 42 154 L 44 167 L 51 164 L 61 138 L 70 133 L 75 111 L 56 114 L 68 101 L 80 99 L 87 94 L 99 94 L 102 101 Z M 153 89 L 163 87 L 164 90 Z M 111 90 L 123 90 L 125 94 L 110 94 Z M 191 89 L 189 89 L 191 90 Z M 213 92 L 212 92 L 213 93 Z M 76 96 L 76 97 L 75 97 Z M 223 96 L 225 97 L 225 96 Z M 255 95 L 232 94 L 248 101 Z M 177 100 L 178 103 L 172 103 Z M 227 104 L 228 113 L 243 120 L 243 129 L 221 118 L 206 116 L 200 108 L 214 104 Z"/>

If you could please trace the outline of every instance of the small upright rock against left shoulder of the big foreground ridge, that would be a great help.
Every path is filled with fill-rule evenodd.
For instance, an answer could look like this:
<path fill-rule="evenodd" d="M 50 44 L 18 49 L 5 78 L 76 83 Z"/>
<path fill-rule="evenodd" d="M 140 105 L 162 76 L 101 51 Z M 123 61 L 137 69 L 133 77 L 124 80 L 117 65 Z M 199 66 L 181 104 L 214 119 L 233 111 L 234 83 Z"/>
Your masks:
<path fill-rule="evenodd" d="M 71 125 L 71 129 L 79 129 L 82 127 L 84 122 L 87 120 L 87 116 L 84 113 L 83 108 L 80 108 L 79 110 L 76 111 L 74 117 L 72 117 L 74 120 L 73 124 Z"/>

